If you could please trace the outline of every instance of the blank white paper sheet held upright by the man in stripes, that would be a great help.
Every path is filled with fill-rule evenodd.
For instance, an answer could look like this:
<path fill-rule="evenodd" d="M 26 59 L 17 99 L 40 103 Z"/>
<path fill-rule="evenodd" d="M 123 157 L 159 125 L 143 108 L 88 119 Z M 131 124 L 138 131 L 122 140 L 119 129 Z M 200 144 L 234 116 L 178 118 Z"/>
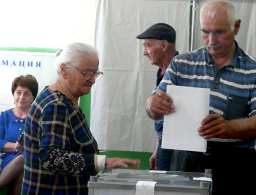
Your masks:
<path fill-rule="evenodd" d="M 167 85 L 174 113 L 164 116 L 162 148 L 206 151 L 207 141 L 198 128 L 209 114 L 210 89 Z"/>

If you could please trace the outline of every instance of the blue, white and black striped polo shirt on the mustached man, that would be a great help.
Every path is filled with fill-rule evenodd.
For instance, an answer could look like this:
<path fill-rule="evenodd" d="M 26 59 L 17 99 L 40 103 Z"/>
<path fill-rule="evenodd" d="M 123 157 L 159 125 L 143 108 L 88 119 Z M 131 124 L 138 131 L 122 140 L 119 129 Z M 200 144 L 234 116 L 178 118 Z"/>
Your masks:
<path fill-rule="evenodd" d="M 206 47 L 176 56 L 169 64 L 161 83 L 153 91 L 166 92 L 166 85 L 210 89 L 209 114 L 217 113 L 226 120 L 252 117 L 256 114 L 256 59 L 238 47 L 228 64 L 218 70 Z M 218 142 L 218 143 L 217 143 Z M 253 147 L 255 139 L 211 138 L 208 145 Z M 223 145 L 226 143 L 223 143 Z"/>

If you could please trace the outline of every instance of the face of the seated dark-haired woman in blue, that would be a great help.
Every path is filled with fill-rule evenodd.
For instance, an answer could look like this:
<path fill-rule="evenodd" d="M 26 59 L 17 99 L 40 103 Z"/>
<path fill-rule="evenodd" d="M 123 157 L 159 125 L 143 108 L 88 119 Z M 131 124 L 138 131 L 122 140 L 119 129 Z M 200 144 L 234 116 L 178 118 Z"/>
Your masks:
<path fill-rule="evenodd" d="M 34 100 L 30 89 L 23 86 L 17 86 L 13 93 L 14 103 L 20 109 L 28 109 Z"/>

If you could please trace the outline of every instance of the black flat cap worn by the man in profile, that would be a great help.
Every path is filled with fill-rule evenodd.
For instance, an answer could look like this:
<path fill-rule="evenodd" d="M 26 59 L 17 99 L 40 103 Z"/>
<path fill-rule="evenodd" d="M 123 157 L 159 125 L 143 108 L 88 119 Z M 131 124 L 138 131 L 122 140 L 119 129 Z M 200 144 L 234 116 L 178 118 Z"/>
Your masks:
<path fill-rule="evenodd" d="M 176 32 L 173 27 L 165 23 L 157 23 L 150 28 L 148 28 L 143 33 L 139 34 L 136 38 L 155 38 L 159 40 L 167 40 L 171 44 L 175 44 Z"/>

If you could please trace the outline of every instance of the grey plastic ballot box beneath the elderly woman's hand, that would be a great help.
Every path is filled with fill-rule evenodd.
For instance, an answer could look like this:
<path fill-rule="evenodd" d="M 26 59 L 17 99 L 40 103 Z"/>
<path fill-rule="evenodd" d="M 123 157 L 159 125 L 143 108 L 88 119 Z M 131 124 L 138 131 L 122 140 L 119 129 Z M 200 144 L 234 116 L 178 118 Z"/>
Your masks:
<path fill-rule="evenodd" d="M 89 195 L 138 193 L 138 182 L 154 182 L 153 194 L 211 194 L 212 175 L 199 172 L 112 169 L 91 176 Z M 139 189 L 139 188 L 138 188 Z"/>

